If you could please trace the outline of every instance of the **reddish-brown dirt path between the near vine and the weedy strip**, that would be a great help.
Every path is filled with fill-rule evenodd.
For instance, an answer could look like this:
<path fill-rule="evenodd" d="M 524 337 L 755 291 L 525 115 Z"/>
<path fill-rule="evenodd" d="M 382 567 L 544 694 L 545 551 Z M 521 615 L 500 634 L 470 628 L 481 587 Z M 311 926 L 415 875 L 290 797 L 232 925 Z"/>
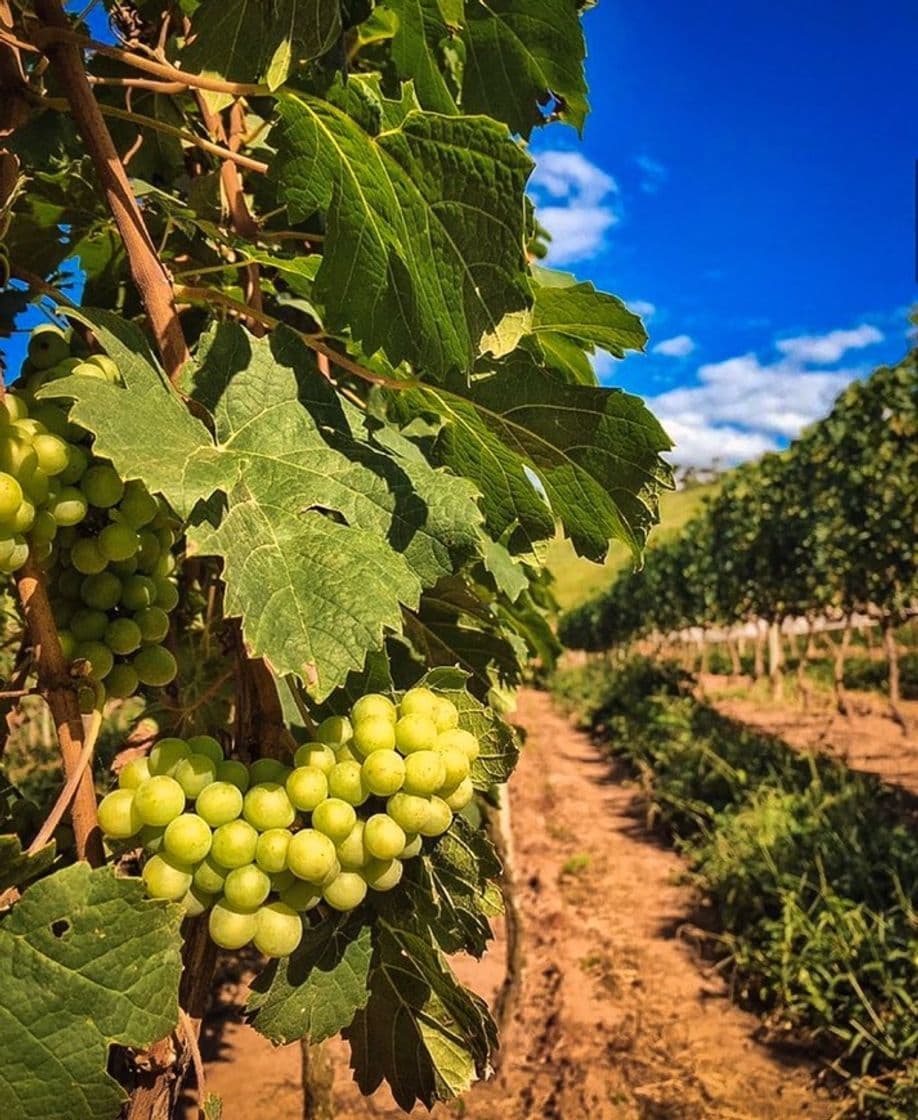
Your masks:
<path fill-rule="evenodd" d="M 757 1019 L 695 963 L 683 865 L 648 838 L 633 791 L 546 696 L 524 693 L 518 719 L 528 732 L 510 785 L 521 996 L 499 1075 L 434 1116 L 826 1120 L 812 1068 L 756 1043 Z M 483 995 L 499 982 L 500 949 L 462 967 Z M 272 1120 L 299 1120 L 294 1052 L 272 1052 L 240 1024 L 222 1043 L 208 1088 L 223 1095 L 225 1120 L 256 1120 L 265 1101 Z M 332 1054 L 336 1120 L 403 1116 L 384 1092 L 362 1100 L 344 1047 Z"/>

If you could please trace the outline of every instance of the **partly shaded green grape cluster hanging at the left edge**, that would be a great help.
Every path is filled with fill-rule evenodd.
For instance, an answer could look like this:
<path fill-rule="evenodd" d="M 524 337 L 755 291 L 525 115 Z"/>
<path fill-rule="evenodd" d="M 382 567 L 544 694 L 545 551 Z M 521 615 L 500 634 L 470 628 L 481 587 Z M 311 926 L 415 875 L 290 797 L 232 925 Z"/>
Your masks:
<path fill-rule="evenodd" d="M 161 644 L 178 604 L 175 533 L 141 482 L 95 457 L 90 433 L 64 410 L 35 401 L 43 384 L 69 375 L 120 376 L 105 355 L 71 356 L 57 328 L 34 332 L 22 393 L 0 402 L 0 571 L 35 557 L 48 572 L 65 657 L 85 661 L 106 696 L 124 699 L 176 675 Z"/>

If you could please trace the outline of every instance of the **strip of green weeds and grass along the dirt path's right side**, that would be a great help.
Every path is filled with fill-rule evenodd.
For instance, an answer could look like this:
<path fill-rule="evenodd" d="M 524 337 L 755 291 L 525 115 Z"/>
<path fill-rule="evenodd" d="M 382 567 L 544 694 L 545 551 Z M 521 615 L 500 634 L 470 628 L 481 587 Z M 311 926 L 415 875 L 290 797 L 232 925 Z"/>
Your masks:
<path fill-rule="evenodd" d="M 668 664 L 593 662 L 555 694 L 641 780 L 716 907 L 733 990 L 825 1055 L 863 1120 L 918 1110 L 916 808 L 690 696 Z M 846 1113 L 849 1114 L 849 1113 Z"/>

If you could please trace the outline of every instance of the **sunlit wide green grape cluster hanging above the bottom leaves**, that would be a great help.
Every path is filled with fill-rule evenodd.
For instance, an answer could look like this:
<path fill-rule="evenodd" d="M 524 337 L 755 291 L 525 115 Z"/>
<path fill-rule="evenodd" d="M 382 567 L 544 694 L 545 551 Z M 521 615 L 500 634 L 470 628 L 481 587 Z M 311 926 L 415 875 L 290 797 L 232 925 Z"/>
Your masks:
<path fill-rule="evenodd" d="M 122 769 L 99 823 L 146 849 L 151 897 L 209 912 L 218 945 L 285 956 L 319 903 L 350 911 L 399 885 L 404 860 L 471 801 L 478 753 L 444 697 L 371 693 L 324 720 L 292 766 L 225 759 L 208 736 L 160 739 Z"/>

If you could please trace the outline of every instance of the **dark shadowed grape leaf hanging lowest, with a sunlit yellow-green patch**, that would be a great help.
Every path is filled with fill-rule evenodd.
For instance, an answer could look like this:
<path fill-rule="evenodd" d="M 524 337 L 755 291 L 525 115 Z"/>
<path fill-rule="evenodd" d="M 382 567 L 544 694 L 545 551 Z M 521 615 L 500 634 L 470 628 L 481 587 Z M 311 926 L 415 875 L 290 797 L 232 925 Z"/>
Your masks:
<path fill-rule="evenodd" d="M 488 1070 L 497 1030 L 425 937 L 385 918 L 374 926 L 369 999 L 344 1030 L 364 1094 L 385 1080 L 406 1112 L 463 1092 Z"/>

